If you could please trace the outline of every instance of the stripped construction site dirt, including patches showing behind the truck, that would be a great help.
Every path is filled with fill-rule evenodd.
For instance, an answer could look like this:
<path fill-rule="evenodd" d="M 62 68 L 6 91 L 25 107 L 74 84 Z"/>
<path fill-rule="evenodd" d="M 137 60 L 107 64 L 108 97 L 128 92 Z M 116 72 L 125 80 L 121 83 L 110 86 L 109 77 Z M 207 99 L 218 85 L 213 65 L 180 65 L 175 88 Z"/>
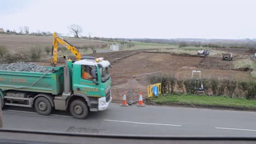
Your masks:
<path fill-rule="evenodd" d="M 135 77 L 132 81 L 131 76 L 155 71 L 162 71 L 162 74 L 172 74 L 177 79 L 190 78 L 192 70 L 201 71 L 201 78 L 251 79 L 249 71 L 234 69 L 232 62 L 222 61 L 219 57 L 145 52 L 145 50 L 104 52 L 91 54 L 90 56 L 104 57 L 105 60 L 109 61 L 112 66 L 110 74 L 125 75 L 112 76 L 113 100 L 121 100 L 124 91 L 127 91 L 128 99 L 136 100 L 139 91 L 143 92 L 143 97 L 147 97 L 147 86 L 150 84 L 147 76 L 150 75 Z M 74 59 L 74 57 L 70 58 Z M 59 58 L 58 65 L 62 65 L 64 61 L 65 59 Z M 49 65 L 49 62 L 43 61 L 37 64 Z M 130 91 L 132 92 L 129 93 Z"/>

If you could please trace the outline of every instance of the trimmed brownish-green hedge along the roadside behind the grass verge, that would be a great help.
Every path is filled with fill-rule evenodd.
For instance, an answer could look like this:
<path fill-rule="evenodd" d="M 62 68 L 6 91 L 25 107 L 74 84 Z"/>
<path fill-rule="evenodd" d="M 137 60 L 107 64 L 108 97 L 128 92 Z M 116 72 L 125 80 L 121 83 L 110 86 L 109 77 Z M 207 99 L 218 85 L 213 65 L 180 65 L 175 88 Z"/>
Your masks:
<path fill-rule="evenodd" d="M 161 81 L 160 76 L 148 77 L 151 84 Z M 254 99 L 256 96 L 255 81 L 236 81 L 232 79 L 181 79 L 174 75 L 163 75 L 161 83 L 161 93 L 174 93 L 182 91 L 186 94 L 201 94 L 201 88 L 205 95 L 220 96 L 226 95 L 232 98 L 236 91 L 240 91 L 246 99 Z"/>

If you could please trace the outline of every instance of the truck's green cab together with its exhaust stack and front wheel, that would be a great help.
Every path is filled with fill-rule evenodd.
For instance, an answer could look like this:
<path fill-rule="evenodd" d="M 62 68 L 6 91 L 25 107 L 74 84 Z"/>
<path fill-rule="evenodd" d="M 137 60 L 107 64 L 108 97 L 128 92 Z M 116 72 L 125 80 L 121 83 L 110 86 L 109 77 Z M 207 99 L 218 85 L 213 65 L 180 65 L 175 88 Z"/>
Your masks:
<path fill-rule="evenodd" d="M 55 109 L 69 109 L 72 116 L 80 119 L 85 118 L 88 111 L 106 110 L 112 101 L 109 65 L 103 58 L 84 58 L 74 63 L 69 59 L 63 72 L 62 97 L 54 99 L 60 107 Z M 63 101 L 67 101 L 66 105 L 61 104 Z"/>

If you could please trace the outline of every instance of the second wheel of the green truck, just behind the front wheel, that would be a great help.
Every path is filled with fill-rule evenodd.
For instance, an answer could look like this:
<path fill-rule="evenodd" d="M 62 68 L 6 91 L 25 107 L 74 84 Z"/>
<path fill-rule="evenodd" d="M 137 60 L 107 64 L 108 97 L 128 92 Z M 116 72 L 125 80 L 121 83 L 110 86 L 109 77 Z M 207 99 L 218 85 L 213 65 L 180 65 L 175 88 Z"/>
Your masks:
<path fill-rule="evenodd" d="M 53 107 L 48 99 L 39 97 L 34 101 L 34 109 L 41 115 L 49 115 Z"/>

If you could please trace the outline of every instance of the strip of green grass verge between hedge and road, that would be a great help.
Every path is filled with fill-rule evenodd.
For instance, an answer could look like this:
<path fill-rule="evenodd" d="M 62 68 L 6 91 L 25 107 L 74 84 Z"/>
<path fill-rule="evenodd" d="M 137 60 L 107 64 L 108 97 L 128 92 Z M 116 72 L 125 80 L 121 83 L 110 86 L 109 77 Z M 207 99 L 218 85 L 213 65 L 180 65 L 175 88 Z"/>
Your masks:
<path fill-rule="evenodd" d="M 219 106 L 234 107 L 238 109 L 256 109 L 256 100 L 247 100 L 245 98 L 229 98 L 224 96 L 206 96 L 206 95 L 159 95 L 150 99 L 156 104 L 193 104 L 201 106 Z"/>

